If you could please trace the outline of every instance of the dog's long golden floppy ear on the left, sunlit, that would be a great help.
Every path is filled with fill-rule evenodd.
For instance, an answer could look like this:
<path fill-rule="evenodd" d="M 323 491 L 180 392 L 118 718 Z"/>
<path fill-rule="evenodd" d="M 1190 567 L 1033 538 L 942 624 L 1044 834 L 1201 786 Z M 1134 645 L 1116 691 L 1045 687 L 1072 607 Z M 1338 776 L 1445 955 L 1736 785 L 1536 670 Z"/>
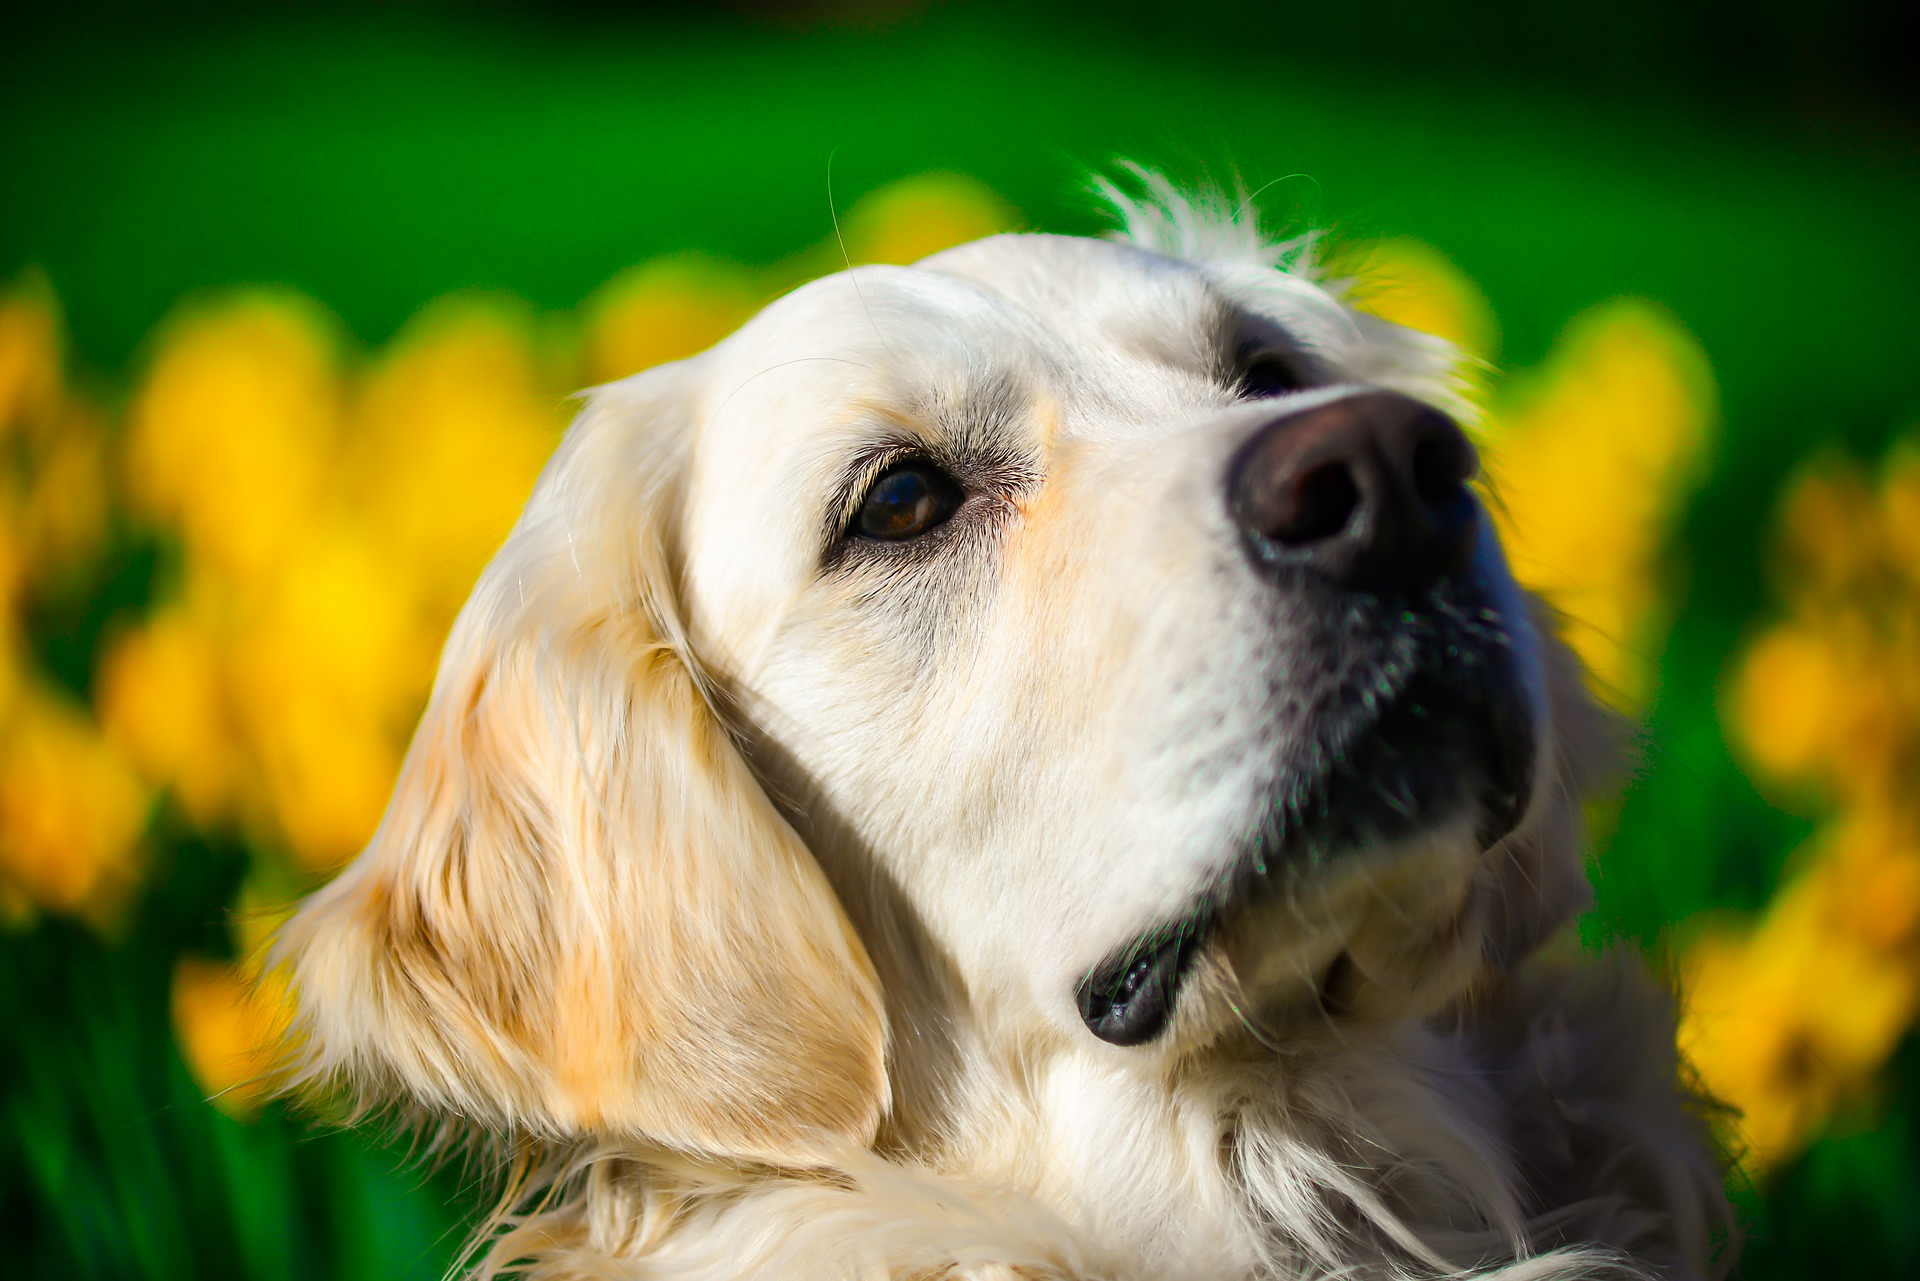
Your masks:
<path fill-rule="evenodd" d="M 595 394 L 453 624 L 372 843 L 282 928 L 294 1085 L 770 1162 L 872 1139 L 874 970 L 680 638 L 687 376 Z"/>

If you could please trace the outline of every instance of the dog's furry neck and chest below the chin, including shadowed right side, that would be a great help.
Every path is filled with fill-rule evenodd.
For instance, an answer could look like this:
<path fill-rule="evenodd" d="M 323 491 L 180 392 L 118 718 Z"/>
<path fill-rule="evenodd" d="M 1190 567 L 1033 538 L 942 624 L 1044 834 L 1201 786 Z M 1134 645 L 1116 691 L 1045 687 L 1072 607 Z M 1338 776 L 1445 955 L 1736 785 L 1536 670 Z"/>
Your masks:
<path fill-rule="evenodd" d="M 1453 1275 L 1569 1241 L 1528 1275 L 1588 1275 L 1609 1248 L 1692 1275 L 1726 1229 L 1665 993 L 1632 962 L 1542 966 L 1430 1020 L 1325 1022 L 1158 1076 L 947 1018 L 929 1037 L 941 1020 L 914 1012 L 897 1039 L 881 1148 L 1031 1198 L 1114 1275 Z"/>

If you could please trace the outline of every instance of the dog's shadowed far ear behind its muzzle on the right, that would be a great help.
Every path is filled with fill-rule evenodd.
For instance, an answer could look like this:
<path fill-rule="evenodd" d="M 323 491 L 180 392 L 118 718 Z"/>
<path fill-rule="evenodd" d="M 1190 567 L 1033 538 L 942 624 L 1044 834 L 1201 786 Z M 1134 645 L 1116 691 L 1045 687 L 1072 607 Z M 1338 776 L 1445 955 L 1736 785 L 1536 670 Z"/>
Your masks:
<path fill-rule="evenodd" d="M 1553 632 L 1553 613 L 1534 601 L 1534 634 L 1546 686 L 1548 726 L 1534 803 L 1496 851 L 1488 956 L 1513 968 L 1594 903 L 1586 882 L 1586 801 L 1615 782 L 1620 718 L 1586 689 L 1580 659 Z"/>

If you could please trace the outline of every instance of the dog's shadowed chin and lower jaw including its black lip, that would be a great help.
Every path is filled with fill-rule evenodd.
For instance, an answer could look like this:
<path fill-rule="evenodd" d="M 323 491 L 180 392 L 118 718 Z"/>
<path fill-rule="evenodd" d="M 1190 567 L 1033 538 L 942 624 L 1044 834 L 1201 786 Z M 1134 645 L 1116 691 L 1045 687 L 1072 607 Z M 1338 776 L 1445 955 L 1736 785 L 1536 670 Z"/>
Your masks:
<path fill-rule="evenodd" d="M 1081 981 L 1087 1027 L 1192 1047 L 1457 997 L 1480 968 L 1478 870 L 1521 824 L 1538 764 L 1524 686 L 1467 693 L 1413 682 L 1321 739 L 1334 764 L 1281 770 L 1215 883 Z"/>

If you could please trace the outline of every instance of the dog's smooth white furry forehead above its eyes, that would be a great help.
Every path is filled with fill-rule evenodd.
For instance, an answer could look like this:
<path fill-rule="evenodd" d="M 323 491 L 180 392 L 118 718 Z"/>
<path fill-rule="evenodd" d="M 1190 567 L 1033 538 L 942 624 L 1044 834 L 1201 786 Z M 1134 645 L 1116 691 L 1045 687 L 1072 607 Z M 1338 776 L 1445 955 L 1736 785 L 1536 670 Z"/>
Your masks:
<path fill-rule="evenodd" d="M 1102 240 L 993 236 L 770 303 L 714 351 L 708 428 L 737 444 L 774 423 L 1008 392 L 1094 419 L 1171 407 L 1217 371 L 1231 313 L 1188 263 Z"/>

